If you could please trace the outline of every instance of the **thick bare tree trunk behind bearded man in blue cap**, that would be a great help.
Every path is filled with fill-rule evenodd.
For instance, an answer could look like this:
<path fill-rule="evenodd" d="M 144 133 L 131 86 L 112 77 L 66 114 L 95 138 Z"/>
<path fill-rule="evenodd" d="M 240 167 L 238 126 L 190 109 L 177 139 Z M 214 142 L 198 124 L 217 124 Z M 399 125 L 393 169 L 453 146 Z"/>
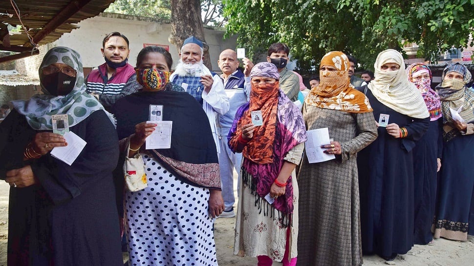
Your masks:
<path fill-rule="evenodd" d="M 212 71 L 209 57 L 209 45 L 204 38 L 204 27 L 201 18 L 201 3 L 199 0 L 171 0 L 171 35 L 168 39 L 181 52 L 186 38 L 194 35 L 203 42 L 204 64 Z"/>

